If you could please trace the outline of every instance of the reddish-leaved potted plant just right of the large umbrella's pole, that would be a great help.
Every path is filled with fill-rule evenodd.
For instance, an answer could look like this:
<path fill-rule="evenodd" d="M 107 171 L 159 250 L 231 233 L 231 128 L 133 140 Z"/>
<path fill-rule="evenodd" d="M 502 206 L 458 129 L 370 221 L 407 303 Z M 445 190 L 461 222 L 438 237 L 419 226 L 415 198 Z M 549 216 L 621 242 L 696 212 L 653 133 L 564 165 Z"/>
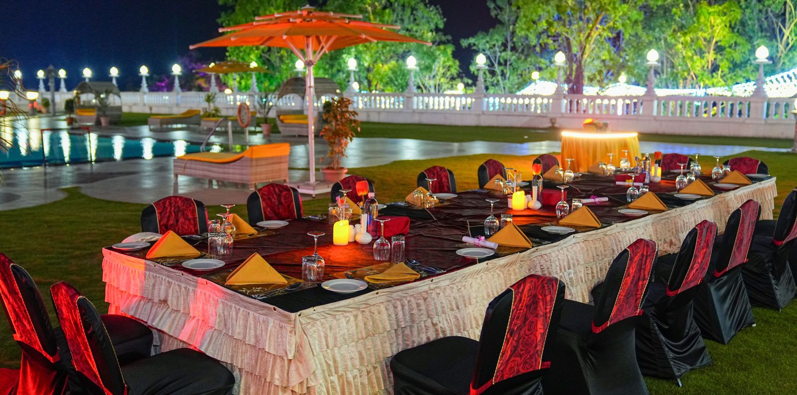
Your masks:
<path fill-rule="evenodd" d="M 346 148 L 354 139 L 355 131 L 359 131 L 357 111 L 351 111 L 351 100 L 340 97 L 324 103 L 324 128 L 321 137 L 329 144 L 329 166 L 321 169 L 327 182 L 337 182 L 344 178 L 348 171 L 340 166 L 346 157 Z"/>

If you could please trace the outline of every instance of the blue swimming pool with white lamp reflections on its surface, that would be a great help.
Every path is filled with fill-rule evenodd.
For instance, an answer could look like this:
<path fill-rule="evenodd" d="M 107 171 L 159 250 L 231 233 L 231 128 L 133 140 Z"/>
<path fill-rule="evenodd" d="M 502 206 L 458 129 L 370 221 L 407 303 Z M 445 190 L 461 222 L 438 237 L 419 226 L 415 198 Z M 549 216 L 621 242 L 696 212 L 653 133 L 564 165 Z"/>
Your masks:
<path fill-rule="evenodd" d="M 70 163 L 151 159 L 199 152 L 199 144 L 121 135 L 70 134 L 68 131 L 14 131 L 0 134 L 0 169 Z M 5 140 L 5 141 L 3 141 Z M 10 143 L 9 143 L 10 142 Z"/>

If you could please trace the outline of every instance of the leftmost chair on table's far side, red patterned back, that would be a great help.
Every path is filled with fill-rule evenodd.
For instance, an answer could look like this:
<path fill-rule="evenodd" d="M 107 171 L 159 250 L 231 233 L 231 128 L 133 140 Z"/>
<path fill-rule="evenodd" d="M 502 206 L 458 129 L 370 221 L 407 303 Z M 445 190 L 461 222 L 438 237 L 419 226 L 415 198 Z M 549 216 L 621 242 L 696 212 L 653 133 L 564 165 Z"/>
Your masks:
<path fill-rule="evenodd" d="M 167 196 L 141 212 L 141 231 L 179 236 L 207 233 L 207 210 L 202 201 L 190 197 Z"/>

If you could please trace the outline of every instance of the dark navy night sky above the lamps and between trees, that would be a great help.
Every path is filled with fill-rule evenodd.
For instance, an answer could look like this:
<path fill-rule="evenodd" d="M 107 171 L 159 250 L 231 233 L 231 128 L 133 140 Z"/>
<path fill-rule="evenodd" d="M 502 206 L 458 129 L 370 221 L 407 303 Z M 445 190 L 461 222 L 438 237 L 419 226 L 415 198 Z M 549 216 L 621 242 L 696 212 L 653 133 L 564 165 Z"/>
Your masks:
<path fill-rule="evenodd" d="M 442 7 L 444 33 L 467 72 L 475 53 L 461 49 L 460 39 L 495 25 L 485 0 L 430 2 Z M 141 65 L 151 74 L 170 72 L 188 45 L 218 36 L 221 7 L 218 0 L 6 0 L 0 10 L 0 57 L 19 62 L 26 88 L 35 88 L 36 71 L 49 65 L 65 68 L 67 88 L 80 81 L 84 67 L 92 69 L 93 80 L 110 80 L 108 69 L 116 66 L 124 90 L 138 88 Z M 203 60 L 224 57 L 224 49 L 198 53 Z"/>

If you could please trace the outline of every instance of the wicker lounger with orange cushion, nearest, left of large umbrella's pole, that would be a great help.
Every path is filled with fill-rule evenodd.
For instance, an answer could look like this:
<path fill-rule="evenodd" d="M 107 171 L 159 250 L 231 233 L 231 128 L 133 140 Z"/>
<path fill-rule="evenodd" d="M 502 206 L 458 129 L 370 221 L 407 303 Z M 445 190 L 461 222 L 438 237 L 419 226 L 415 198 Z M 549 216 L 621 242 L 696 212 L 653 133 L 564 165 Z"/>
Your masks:
<path fill-rule="evenodd" d="M 177 176 L 206 178 L 209 180 L 240 182 L 254 190 L 258 182 L 288 182 L 289 143 L 252 146 L 235 153 L 198 152 L 175 158 L 173 162 L 175 183 Z"/>

